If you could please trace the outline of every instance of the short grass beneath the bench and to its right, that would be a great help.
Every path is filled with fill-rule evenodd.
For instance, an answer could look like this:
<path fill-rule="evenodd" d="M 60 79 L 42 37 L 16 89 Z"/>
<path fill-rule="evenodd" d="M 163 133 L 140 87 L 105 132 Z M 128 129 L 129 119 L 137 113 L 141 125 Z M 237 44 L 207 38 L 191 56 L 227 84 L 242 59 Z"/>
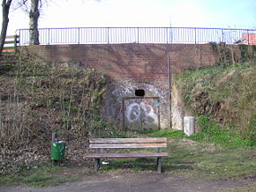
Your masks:
<path fill-rule="evenodd" d="M 243 144 L 227 147 L 209 140 L 193 141 L 178 130 L 150 130 L 139 137 L 169 137 L 169 157 L 163 159 L 165 174 L 180 175 L 188 180 L 213 181 L 255 175 L 256 149 Z M 226 141 L 226 140 L 224 140 Z M 109 159 L 102 173 L 155 172 L 155 159 Z"/>

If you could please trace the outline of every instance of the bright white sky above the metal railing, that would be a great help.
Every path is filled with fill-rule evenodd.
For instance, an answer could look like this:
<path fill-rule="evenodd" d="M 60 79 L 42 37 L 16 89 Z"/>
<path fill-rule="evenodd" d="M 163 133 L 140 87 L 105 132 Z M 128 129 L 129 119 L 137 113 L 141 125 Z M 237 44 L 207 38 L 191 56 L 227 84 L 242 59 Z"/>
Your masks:
<path fill-rule="evenodd" d="M 24 11 L 11 9 L 9 18 L 9 35 L 28 28 Z M 42 7 L 40 28 L 87 26 L 256 29 L 256 0 L 49 0 Z"/>

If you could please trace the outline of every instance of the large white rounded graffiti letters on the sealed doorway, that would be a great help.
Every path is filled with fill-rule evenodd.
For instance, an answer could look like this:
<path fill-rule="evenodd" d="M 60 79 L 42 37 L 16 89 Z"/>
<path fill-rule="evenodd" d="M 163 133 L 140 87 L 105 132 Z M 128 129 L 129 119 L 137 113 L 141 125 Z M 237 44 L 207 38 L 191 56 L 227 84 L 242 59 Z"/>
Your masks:
<path fill-rule="evenodd" d="M 149 111 L 147 110 L 149 109 Z M 157 125 L 158 124 L 158 116 L 154 113 L 154 107 L 141 103 L 132 103 L 128 107 L 126 107 L 126 118 L 129 123 L 141 121 L 143 123 L 150 123 Z"/>

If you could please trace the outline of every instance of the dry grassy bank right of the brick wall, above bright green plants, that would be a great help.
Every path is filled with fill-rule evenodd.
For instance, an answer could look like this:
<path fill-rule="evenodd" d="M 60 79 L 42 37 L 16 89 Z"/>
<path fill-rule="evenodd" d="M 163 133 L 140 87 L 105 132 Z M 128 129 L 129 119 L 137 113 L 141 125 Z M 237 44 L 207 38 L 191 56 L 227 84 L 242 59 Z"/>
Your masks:
<path fill-rule="evenodd" d="M 185 110 L 205 115 L 232 134 L 255 143 L 256 63 L 187 71 L 177 75 Z"/>

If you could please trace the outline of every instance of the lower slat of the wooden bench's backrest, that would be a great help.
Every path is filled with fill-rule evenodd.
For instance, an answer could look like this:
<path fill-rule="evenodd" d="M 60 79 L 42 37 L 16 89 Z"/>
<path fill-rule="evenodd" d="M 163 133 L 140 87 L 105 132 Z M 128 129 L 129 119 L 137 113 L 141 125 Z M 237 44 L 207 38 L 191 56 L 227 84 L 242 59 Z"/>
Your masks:
<path fill-rule="evenodd" d="M 90 144 L 92 149 L 164 148 L 167 144 Z"/>

